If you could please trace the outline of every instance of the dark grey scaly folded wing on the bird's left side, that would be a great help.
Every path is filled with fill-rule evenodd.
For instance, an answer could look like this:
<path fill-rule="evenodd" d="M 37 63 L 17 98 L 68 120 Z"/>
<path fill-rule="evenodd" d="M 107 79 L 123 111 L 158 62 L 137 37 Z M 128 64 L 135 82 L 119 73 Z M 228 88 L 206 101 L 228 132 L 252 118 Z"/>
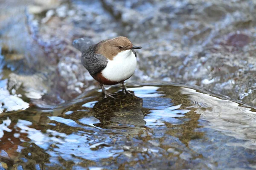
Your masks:
<path fill-rule="evenodd" d="M 81 62 L 90 74 L 96 74 L 102 71 L 108 64 L 106 57 L 92 52 L 82 54 Z"/>

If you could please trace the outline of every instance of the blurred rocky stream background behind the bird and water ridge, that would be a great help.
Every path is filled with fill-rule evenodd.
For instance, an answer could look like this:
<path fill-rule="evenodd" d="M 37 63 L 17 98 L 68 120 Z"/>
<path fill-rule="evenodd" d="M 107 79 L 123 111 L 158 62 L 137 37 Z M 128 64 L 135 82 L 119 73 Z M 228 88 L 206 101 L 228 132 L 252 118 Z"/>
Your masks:
<path fill-rule="evenodd" d="M 128 83 L 197 85 L 255 105 L 255 8 L 255 0 L 0 0 L 1 112 L 99 88 L 72 46 L 79 37 L 142 46 Z"/>

